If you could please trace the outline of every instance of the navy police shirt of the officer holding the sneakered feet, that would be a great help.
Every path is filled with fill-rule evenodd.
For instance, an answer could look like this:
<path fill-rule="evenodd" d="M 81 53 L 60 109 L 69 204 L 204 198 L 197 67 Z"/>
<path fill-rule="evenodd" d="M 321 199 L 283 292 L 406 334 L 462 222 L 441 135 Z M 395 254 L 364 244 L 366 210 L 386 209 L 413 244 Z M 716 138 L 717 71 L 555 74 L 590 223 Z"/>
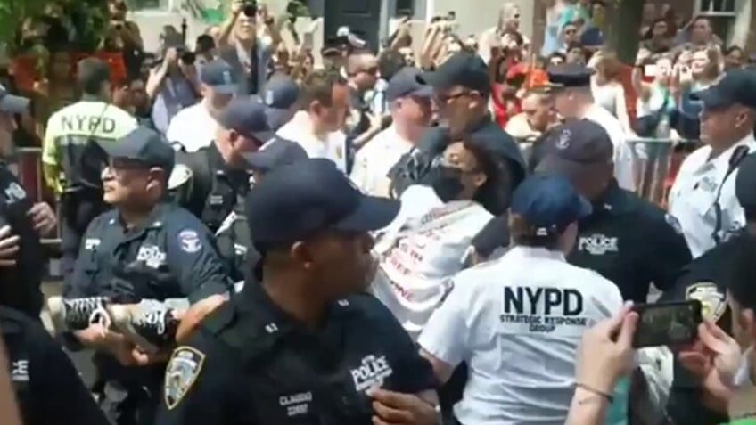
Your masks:
<path fill-rule="evenodd" d="M 67 298 L 114 302 L 189 298 L 194 303 L 232 288 L 210 231 L 189 211 L 164 202 L 144 227 L 126 230 L 116 209 L 96 217 L 83 238 Z"/>

